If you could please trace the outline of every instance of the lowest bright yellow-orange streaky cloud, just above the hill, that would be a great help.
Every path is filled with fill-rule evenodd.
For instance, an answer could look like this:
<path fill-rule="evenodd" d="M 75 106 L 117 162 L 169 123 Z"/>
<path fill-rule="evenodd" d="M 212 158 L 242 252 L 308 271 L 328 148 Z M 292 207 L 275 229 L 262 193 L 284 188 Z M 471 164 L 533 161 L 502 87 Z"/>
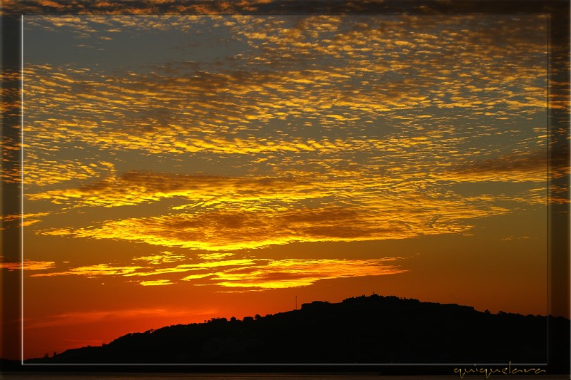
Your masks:
<path fill-rule="evenodd" d="M 137 277 L 168 275 L 168 279 L 135 281 L 143 286 L 170 285 L 184 281 L 229 288 L 282 289 L 309 286 L 320 279 L 380 276 L 406 272 L 407 269 L 402 269 L 395 264 L 400 260 L 403 259 L 400 257 L 373 260 L 240 259 L 194 262 L 174 267 L 164 266 L 168 264 L 166 262 L 153 264 L 152 267 L 115 267 L 99 264 L 72 268 L 65 272 L 33 274 L 31 277 L 79 275 L 88 278 L 113 276 L 136 279 Z M 176 274 L 182 272 L 192 272 L 192 274 L 176 278 Z"/>

